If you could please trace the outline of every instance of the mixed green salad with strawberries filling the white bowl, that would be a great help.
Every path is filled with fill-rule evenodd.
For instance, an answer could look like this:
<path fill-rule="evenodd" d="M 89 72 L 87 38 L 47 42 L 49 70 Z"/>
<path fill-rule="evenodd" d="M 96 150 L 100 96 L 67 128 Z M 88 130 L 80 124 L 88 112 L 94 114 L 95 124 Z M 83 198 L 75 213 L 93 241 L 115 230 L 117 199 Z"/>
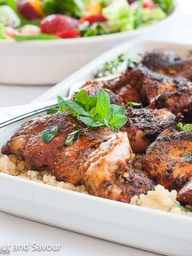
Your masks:
<path fill-rule="evenodd" d="M 98 36 L 158 22 L 174 0 L 0 0 L 0 39 Z"/>

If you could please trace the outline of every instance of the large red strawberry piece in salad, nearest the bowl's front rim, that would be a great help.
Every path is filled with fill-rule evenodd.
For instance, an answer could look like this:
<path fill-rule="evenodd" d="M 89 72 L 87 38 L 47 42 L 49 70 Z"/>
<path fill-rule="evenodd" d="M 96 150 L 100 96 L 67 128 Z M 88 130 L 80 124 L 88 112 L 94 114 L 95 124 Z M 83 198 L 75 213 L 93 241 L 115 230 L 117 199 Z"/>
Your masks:
<path fill-rule="evenodd" d="M 48 15 L 41 21 L 42 33 L 55 35 L 71 29 L 76 29 L 79 21 L 62 14 Z"/>

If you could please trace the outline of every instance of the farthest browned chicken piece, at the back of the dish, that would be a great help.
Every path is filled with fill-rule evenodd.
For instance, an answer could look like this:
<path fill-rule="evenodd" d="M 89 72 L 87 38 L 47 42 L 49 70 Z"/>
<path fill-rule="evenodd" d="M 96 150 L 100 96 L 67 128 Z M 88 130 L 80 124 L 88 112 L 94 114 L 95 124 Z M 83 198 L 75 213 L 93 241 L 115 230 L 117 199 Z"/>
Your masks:
<path fill-rule="evenodd" d="M 172 51 L 147 52 L 142 59 L 143 65 L 157 73 L 167 76 L 181 76 L 192 81 L 192 57 L 181 58 Z"/>

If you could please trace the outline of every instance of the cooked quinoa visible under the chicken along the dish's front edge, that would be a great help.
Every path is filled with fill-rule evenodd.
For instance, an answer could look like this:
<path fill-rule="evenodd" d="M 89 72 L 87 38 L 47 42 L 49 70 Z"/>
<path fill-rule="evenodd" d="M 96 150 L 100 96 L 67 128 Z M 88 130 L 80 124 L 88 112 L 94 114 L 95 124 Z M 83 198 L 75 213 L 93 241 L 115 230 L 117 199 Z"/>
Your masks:
<path fill-rule="evenodd" d="M 82 186 L 74 186 L 71 183 L 57 181 L 53 173 L 49 170 L 45 171 L 30 171 L 25 168 L 24 161 L 18 156 L 2 155 L 0 157 L 0 172 L 18 176 L 23 179 L 33 180 L 39 183 L 44 183 L 54 187 L 65 188 L 81 193 L 86 193 L 86 188 Z M 157 185 L 155 190 L 148 191 L 147 195 L 141 194 L 131 198 L 131 204 L 147 207 L 150 209 L 157 209 L 176 214 L 183 214 L 192 217 L 192 212 L 185 212 L 175 204 L 177 201 L 177 191 L 171 192 L 161 185 Z"/>

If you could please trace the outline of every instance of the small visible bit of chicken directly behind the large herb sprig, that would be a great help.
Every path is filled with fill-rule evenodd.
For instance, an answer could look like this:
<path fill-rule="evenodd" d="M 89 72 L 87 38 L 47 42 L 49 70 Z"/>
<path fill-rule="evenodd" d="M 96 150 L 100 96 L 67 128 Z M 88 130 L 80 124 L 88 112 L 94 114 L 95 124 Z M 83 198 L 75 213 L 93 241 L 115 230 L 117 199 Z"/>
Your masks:
<path fill-rule="evenodd" d="M 89 96 L 97 96 L 101 88 L 109 94 L 111 104 L 124 105 L 122 97 L 109 90 L 109 84 L 107 82 L 90 80 L 81 87 L 81 90 L 87 91 Z"/>

